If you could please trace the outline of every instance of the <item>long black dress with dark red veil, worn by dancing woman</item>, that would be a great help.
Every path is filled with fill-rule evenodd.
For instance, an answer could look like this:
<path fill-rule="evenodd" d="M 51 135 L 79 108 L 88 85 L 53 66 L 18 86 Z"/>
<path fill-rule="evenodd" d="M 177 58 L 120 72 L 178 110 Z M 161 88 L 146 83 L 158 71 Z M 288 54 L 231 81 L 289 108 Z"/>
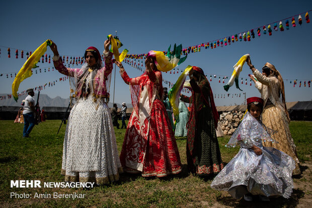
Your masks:
<path fill-rule="evenodd" d="M 210 175 L 220 172 L 223 168 L 215 132 L 219 116 L 214 105 L 210 84 L 202 69 L 200 70 L 198 83 L 194 79 L 190 81 L 192 96 L 181 96 L 181 100 L 189 102 L 191 106 L 190 119 L 187 124 L 186 156 L 192 173 Z"/>

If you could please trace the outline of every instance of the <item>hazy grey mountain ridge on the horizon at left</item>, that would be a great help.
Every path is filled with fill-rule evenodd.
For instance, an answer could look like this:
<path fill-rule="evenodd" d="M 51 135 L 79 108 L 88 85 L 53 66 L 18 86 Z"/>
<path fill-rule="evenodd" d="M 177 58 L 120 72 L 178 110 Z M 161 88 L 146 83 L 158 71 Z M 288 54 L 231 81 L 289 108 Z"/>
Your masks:
<path fill-rule="evenodd" d="M 35 96 L 34 96 L 35 101 L 37 101 L 37 95 L 38 94 L 35 94 Z M 23 95 L 16 102 L 13 99 L 13 97 L 8 99 L 8 94 L 2 93 L 2 94 L 0 94 L 0 96 L 6 96 L 6 99 L 0 100 L 0 106 L 20 106 L 21 107 L 22 100 L 26 98 L 26 95 Z M 47 94 L 41 94 L 40 93 L 39 105 L 41 108 L 44 106 L 46 106 L 46 107 L 67 107 L 68 103 L 69 103 L 69 98 L 62 98 L 60 96 L 56 96 L 54 98 L 51 98 Z M 131 103 L 127 103 L 126 105 L 128 108 L 132 108 Z M 113 103 L 109 102 L 108 107 L 112 108 Z M 121 104 L 117 103 L 117 107 L 121 108 Z"/>

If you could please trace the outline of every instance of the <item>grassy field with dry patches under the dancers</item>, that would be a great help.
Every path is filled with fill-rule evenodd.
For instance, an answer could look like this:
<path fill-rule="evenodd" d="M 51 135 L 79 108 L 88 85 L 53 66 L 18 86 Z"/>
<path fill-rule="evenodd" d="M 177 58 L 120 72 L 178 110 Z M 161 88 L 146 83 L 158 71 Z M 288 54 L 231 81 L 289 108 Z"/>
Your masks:
<path fill-rule="evenodd" d="M 121 123 L 121 121 L 120 121 Z M 224 206 L 249 206 L 244 200 L 232 199 L 227 192 L 210 188 L 212 178 L 196 177 L 187 171 L 186 138 L 177 138 L 183 171 L 176 176 L 145 178 L 122 174 L 118 182 L 91 190 L 82 188 L 10 188 L 10 180 L 40 180 L 61 182 L 60 175 L 65 125 L 56 135 L 60 121 L 46 121 L 35 126 L 30 138 L 23 138 L 23 124 L 0 121 L 0 206 L 1 207 L 208 207 L 216 202 Z M 310 161 L 312 122 L 291 122 L 290 131 L 297 145 L 300 162 Z M 120 152 L 125 129 L 116 129 Z M 226 148 L 229 137 L 219 138 L 223 162 L 235 156 L 239 148 Z M 294 181 L 304 181 L 304 177 Z M 310 183 L 310 181 L 308 181 Z M 10 193 L 74 193 L 83 199 L 71 198 L 11 198 Z M 305 193 L 295 188 L 290 199 L 271 199 L 271 207 L 296 206 Z M 263 202 L 259 207 L 268 207 Z"/>

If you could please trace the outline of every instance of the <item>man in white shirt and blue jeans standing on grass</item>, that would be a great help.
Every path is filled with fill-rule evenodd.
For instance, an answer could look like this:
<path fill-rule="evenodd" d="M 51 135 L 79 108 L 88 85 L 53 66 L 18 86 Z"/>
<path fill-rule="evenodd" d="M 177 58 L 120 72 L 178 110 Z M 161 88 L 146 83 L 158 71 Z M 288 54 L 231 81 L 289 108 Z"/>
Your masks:
<path fill-rule="evenodd" d="M 24 111 L 23 111 L 23 117 L 24 117 L 24 131 L 23 131 L 23 137 L 29 137 L 29 134 L 31 130 L 35 126 L 35 100 L 33 96 L 35 95 L 34 89 L 30 88 L 27 89 L 26 92 L 28 93 L 28 96 L 23 100 L 24 103 Z"/>

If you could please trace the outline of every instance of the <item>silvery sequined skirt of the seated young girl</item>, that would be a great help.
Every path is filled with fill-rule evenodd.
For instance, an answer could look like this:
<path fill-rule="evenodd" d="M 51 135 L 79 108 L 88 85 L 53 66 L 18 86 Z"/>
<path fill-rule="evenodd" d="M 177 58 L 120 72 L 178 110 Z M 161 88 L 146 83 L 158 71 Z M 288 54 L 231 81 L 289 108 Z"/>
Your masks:
<path fill-rule="evenodd" d="M 253 150 L 241 148 L 210 186 L 228 191 L 234 198 L 246 194 L 242 187 L 253 195 L 288 198 L 293 188 L 291 175 L 295 168 L 294 160 L 272 147 L 263 147 L 262 152 L 257 156 Z"/>

